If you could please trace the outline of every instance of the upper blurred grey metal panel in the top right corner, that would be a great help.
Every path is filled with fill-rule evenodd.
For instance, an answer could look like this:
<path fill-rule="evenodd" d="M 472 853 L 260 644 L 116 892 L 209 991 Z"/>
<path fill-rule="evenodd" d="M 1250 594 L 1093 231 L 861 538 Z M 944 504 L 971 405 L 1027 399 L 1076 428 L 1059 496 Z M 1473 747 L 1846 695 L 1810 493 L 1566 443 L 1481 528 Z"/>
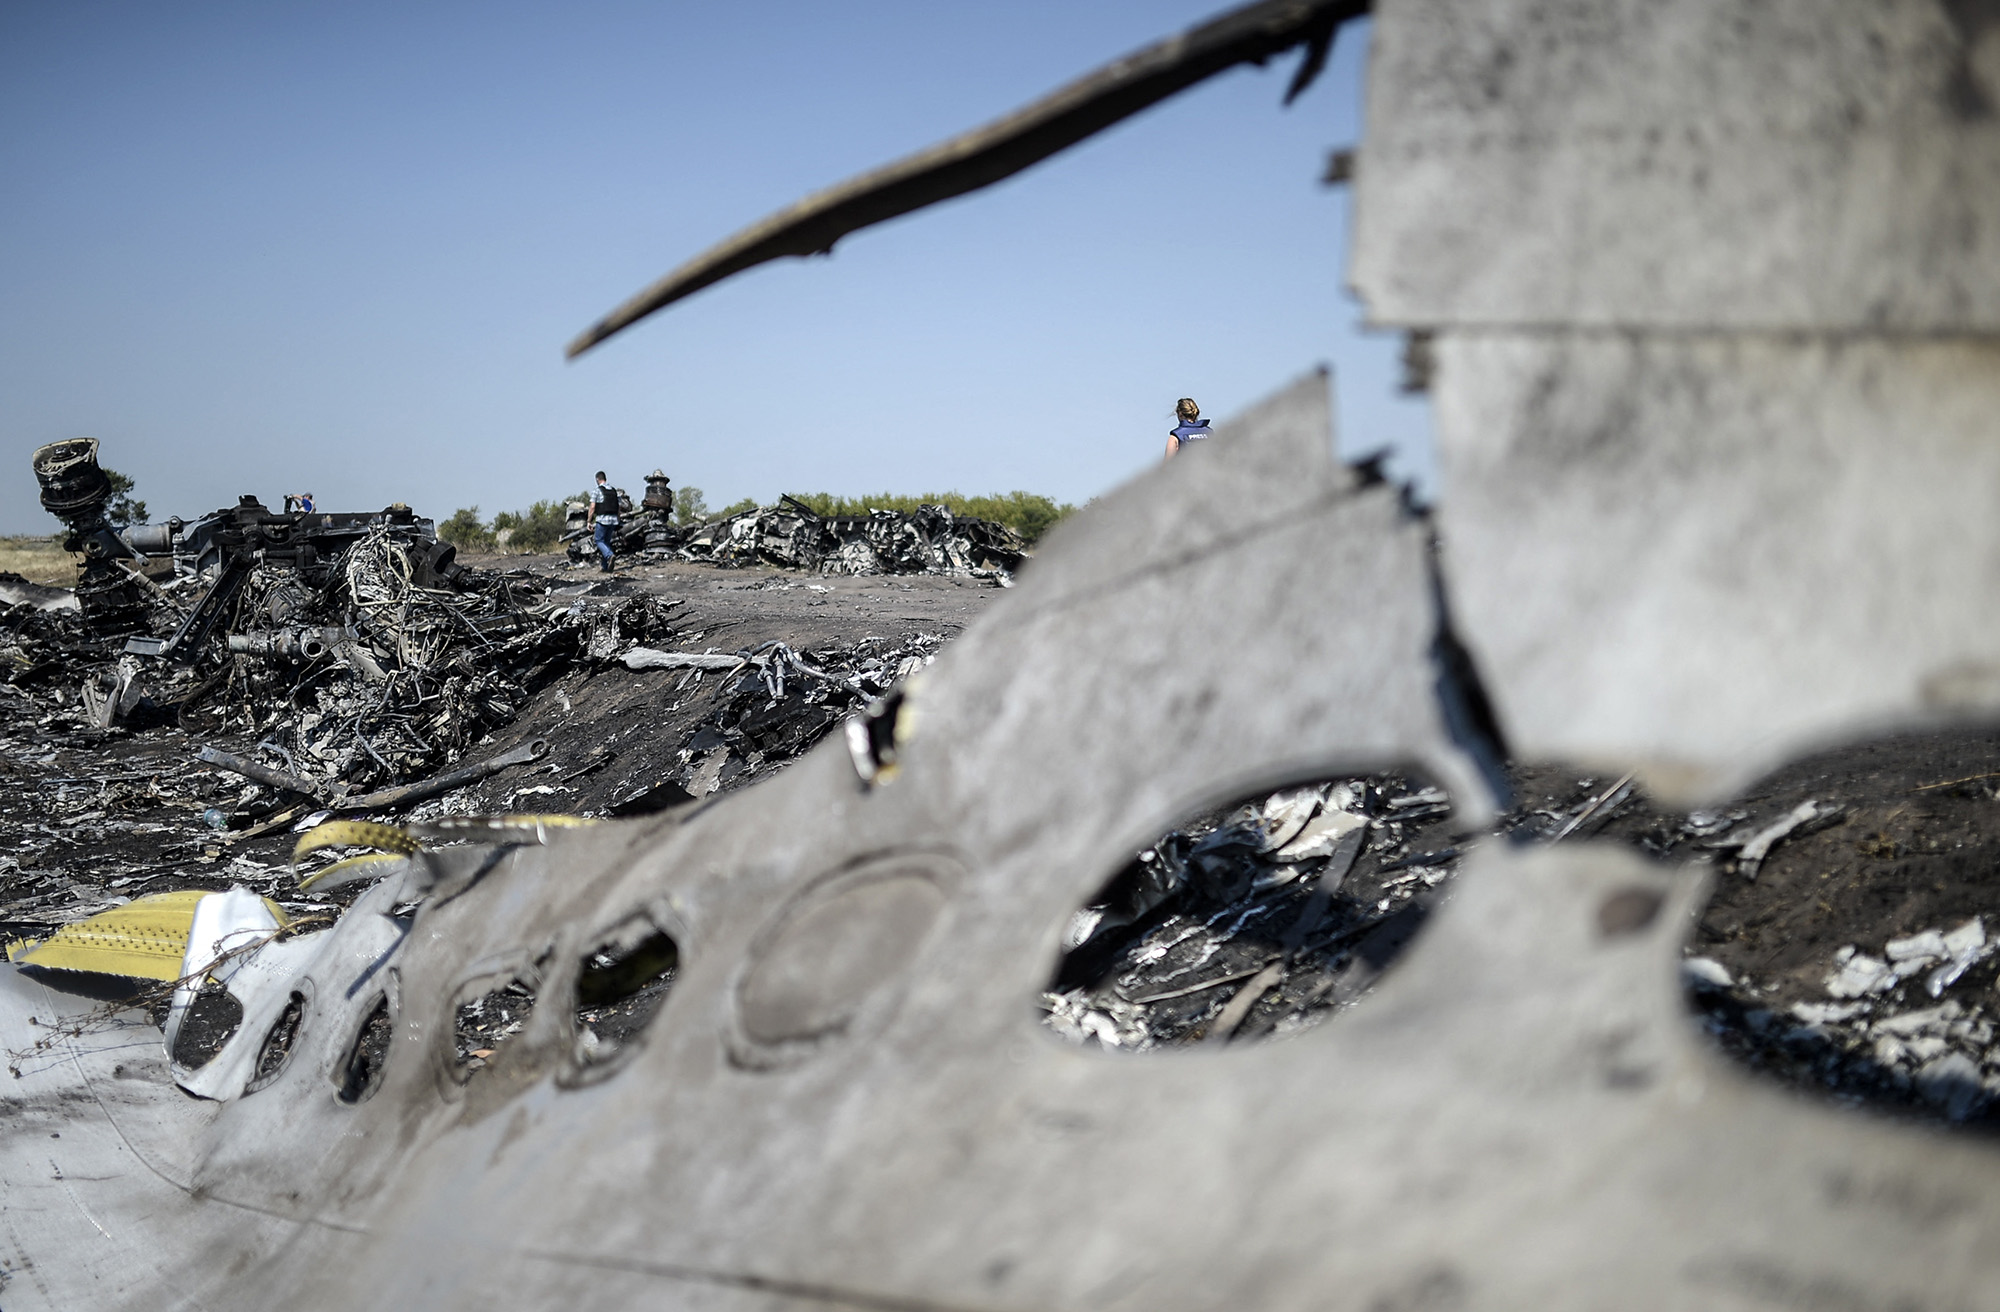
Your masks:
<path fill-rule="evenodd" d="M 1382 324 L 2000 328 L 2000 20 L 1950 0 L 1382 0 Z"/>

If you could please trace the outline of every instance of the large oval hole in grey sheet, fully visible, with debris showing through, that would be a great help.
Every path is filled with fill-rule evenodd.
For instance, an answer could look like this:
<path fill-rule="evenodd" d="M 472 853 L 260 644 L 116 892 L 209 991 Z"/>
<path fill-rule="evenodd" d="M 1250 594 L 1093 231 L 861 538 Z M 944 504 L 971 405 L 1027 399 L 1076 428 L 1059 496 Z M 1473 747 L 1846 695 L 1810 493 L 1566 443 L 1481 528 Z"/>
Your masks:
<path fill-rule="evenodd" d="M 1452 804 L 1340 776 L 1190 816 L 1068 922 L 1044 1024 L 1120 1050 L 1240 1042 L 1354 1004 L 1458 868 Z"/>

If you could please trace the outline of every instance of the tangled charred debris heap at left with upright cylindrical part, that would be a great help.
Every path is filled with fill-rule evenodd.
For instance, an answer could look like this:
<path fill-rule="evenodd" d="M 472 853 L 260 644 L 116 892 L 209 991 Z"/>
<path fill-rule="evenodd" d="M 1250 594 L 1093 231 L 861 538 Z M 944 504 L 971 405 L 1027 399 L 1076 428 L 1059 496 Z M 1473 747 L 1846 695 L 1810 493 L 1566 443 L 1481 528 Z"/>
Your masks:
<path fill-rule="evenodd" d="M 0 616 L 10 686 L 86 724 L 248 738 L 210 752 L 320 802 L 456 762 L 576 654 L 526 578 L 468 570 L 430 520 L 272 512 L 254 496 L 120 538 L 100 514 L 96 442 L 36 454 L 42 502 L 84 556 L 76 610 Z"/>

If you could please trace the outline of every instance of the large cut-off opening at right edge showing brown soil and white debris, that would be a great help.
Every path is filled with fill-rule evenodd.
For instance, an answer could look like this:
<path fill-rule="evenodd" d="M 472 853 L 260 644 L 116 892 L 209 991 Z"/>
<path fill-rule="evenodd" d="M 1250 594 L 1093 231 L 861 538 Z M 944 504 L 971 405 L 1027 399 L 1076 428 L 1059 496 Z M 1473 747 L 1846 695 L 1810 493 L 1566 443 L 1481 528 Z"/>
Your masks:
<path fill-rule="evenodd" d="M 2000 1130 L 2000 734 L 1856 742 L 1654 828 L 1714 862 L 1682 980 L 1730 1058 Z"/>

